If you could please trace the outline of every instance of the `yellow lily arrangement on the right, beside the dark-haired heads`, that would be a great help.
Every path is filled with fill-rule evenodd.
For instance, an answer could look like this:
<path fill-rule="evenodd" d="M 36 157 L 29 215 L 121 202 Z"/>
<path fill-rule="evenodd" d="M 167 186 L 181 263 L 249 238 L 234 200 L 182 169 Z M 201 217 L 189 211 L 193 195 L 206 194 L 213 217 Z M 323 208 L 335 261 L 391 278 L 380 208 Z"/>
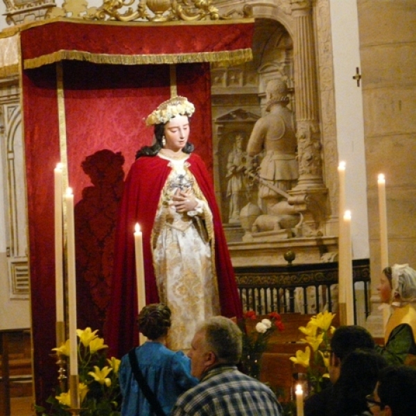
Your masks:
<path fill-rule="evenodd" d="M 320 312 L 311 318 L 306 327 L 299 328 L 305 335 L 300 341 L 308 345 L 304 351 L 298 349 L 296 356 L 290 359 L 306 369 L 310 395 L 320 392 L 325 379 L 329 378 L 329 343 L 335 330 L 331 326 L 334 317 L 334 313 Z"/>

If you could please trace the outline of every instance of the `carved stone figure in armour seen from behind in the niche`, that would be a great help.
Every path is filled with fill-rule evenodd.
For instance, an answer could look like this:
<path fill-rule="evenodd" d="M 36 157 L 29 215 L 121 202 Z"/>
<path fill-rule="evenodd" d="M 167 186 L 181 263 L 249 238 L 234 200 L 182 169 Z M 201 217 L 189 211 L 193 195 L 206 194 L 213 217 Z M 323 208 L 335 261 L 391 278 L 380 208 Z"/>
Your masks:
<path fill-rule="evenodd" d="M 266 98 L 268 114 L 254 124 L 247 146 L 247 175 L 259 182 L 257 204 L 263 213 L 254 220 L 250 232 L 275 232 L 279 239 L 284 239 L 292 236 L 284 230 L 300 222 L 300 214 L 288 204 L 287 193 L 299 177 L 297 138 L 293 112 L 286 107 L 289 98 L 284 80 L 269 81 Z M 252 161 L 260 153 L 263 158 L 259 168 L 255 168 Z"/>

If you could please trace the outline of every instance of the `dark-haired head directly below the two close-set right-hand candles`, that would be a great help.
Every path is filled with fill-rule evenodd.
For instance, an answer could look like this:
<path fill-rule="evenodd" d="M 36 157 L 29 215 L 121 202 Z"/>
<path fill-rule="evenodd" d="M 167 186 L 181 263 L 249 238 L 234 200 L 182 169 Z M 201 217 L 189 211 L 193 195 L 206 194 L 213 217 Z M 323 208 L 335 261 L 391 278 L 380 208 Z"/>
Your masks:
<path fill-rule="evenodd" d="M 338 327 L 331 338 L 331 350 L 341 361 L 357 348 L 374 349 L 375 345 L 371 333 L 359 325 Z"/>

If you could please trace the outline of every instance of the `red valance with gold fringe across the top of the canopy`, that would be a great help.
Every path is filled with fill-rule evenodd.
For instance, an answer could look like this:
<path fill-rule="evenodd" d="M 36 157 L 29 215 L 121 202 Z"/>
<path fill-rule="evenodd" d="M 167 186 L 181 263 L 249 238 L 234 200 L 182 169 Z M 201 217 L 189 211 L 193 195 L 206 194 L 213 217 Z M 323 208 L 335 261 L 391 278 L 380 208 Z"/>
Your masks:
<path fill-rule="evenodd" d="M 46 21 L 22 31 L 21 55 L 25 69 L 64 59 L 107 64 L 235 64 L 251 60 L 253 30 L 252 19 L 187 25 L 183 21 L 171 24 Z"/>

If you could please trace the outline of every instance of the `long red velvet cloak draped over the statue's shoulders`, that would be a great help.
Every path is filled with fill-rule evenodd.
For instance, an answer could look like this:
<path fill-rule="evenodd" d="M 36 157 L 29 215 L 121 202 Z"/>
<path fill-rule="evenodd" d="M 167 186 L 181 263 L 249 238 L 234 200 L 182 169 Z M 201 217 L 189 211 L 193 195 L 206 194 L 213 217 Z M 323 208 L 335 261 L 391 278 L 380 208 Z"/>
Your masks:
<path fill-rule="evenodd" d="M 242 307 L 237 291 L 234 269 L 229 257 L 214 187 L 207 168 L 198 155 L 189 159 L 189 170 L 207 198 L 213 214 L 215 261 L 221 313 L 229 318 L 241 317 Z M 159 302 L 150 236 L 156 216 L 160 193 L 171 172 L 169 162 L 160 157 L 140 157 L 130 168 L 125 180 L 119 211 L 114 250 L 112 301 L 105 340 L 111 353 L 121 358 L 138 343 L 136 317 L 138 314 L 135 271 L 135 223 L 143 233 L 143 254 L 146 285 L 146 304 Z M 139 305 L 140 309 L 144 305 Z"/>

